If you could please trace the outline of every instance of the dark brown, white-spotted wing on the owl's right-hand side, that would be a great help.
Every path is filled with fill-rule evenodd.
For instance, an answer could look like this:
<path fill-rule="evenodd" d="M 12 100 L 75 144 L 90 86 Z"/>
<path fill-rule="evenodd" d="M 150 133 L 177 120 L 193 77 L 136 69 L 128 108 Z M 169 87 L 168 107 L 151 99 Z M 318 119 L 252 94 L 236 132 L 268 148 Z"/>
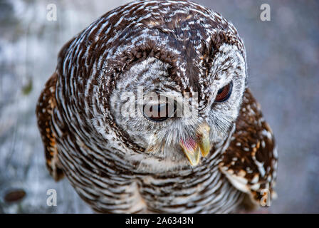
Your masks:
<path fill-rule="evenodd" d="M 243 184 L 239 190 L 249 195 L 252 204 L 260 204 L 263 189 L 268 190 L 271 197 L 276 195 L 273 192 L 277 165 L 274 150 L 271 128 L 263 119 L 260 105 L 246 88 L 236 131 L 219 167 L 235 187 L 239 188 L 236 186 L 239 182 Z M 259 167 L 256 161 L 260 162 Z"/>

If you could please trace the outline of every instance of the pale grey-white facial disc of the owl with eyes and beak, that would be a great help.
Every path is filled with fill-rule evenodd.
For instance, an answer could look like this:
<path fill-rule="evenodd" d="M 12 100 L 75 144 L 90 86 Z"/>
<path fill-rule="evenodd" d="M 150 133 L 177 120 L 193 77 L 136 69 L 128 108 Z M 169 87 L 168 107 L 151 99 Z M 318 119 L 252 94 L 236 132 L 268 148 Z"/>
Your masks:
<path fill-rule="evenodd" d="M 211 147 L 226 140 L 236 121 L 245 88 L 245 61 L 236 46 L 222 45 L 206 81 L 197 81 L 201 90 L 189 85 L 188 92 L 169 75 L 171 67 L 155 57 L 133 64 L 117 81 L 111 113 L 145 154 L 197 165 Z"/>

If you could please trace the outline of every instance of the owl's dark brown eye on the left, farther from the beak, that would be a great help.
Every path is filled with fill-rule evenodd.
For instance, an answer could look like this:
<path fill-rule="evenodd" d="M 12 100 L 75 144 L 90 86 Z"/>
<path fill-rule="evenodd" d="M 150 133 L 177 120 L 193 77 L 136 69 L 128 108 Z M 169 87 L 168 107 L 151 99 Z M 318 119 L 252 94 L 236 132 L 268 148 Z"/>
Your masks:
<path fill-rule="evenodd" d="M 144 105 L 143 114 L 145 118 L 162 122 L 176 113 L 176 103 L 160 103 L 156 105 Z"/>

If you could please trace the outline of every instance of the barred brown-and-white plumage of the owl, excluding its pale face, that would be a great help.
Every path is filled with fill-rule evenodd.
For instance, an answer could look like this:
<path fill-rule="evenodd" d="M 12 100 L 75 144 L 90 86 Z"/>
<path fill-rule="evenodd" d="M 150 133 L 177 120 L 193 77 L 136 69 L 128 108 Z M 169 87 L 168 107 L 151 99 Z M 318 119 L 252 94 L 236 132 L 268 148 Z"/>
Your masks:
<path fill-rule="evenodd" d="M 209 118 L 214 83 L 226 80 L 221 72 L 244 81 L 236 88 L 245 90 L 236 98 L 236 119 L 199 165 L 189 165 L 180 151 L 176 165 L 172 155 L 145 152 L 147 145 L 138 135 L 132 140 L 125 121 L 111 111 L 121 76 L 143 64 L 164 64 L 169 89 L 199 93 L 201 120 Z M 244 43 L 220 14 L 189 1 L 120 6 L 63 46 L 41 93 L 36 114 L 48 170 L 55 180 L 64 173 L 97 212 L 236 212 L 245 196 L 258 204 L 262 189 L 273 191 L 277 155 L 245 82 Z M 223 128 L 213 123 L 215 131 Z"/>

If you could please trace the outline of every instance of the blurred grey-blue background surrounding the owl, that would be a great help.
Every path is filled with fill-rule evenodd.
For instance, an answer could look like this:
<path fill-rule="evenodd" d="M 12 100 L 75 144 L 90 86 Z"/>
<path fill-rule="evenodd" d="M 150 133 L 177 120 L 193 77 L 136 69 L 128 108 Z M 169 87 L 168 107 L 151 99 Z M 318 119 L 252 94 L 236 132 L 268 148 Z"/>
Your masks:
<path fill-rule="evenodd" d="M 278 143 L 271 212 L 318 213 L 319 2 L 195 1 L 221 13 L 244 38 L 249 86 Z M 0 212 L 91 212 L 67 180 L 48 175 L 36 100 L 63 44 L 125 2 L 0 0 Z M 263 3 L 271 6 L 271 21 L 260 19 Z M 48 4 L 56 4 L 57 21 L 46 19 Z M 57 192 L 56 207 L 46 204 L 48 189 Z"/>

